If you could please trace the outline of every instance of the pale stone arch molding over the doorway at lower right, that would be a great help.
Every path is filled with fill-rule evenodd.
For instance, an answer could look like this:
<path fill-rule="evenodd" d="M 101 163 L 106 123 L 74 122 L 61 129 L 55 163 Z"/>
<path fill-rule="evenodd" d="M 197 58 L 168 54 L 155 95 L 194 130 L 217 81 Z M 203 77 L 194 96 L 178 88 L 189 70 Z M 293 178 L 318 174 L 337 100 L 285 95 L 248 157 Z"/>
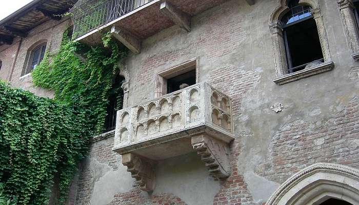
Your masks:
<path fill-rule="evenodd" d="M 359 204 L 359 170 L 315 163 L 288 178 L 266 205 L 317 205 L 329 198 Z"/>

